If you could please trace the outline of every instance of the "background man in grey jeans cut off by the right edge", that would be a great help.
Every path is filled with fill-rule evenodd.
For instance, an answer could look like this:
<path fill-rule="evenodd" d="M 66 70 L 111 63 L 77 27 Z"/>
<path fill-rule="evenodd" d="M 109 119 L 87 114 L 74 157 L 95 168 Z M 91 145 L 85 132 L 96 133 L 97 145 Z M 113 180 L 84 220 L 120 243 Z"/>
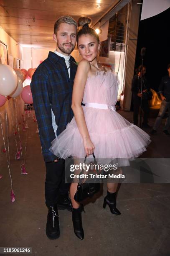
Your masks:
<path fill-rule="evenodd" d="M 160 105 L 160 111 L 158 113 L 158 116 L 153 125 L 153 129 L 150 132 L 151 134 L 157 133 L 157 128 L 159 127 L 162 121 L 162 118 L 164 117 L 165 112 L 168 109 L 167 120 L 163 128 L 163 133 L 165 133 L 166 135 L 170 135 L 170 133 L 167 131 L 168 128 L 170 127 L 170 64 L 167 65 L 167 72 L 168 72 L 168 75 L 165 77 L 162 77 L 162 80 L 159 86 L 158 93 L 160 93 L 162 103 Z"/>

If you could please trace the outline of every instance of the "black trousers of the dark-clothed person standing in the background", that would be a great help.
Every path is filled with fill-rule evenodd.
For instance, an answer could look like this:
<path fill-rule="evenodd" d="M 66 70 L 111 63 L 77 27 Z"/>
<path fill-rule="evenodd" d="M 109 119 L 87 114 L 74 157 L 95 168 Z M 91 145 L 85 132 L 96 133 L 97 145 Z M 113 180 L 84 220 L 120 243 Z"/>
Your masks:
<path fill-rule="evenodd" d="M 138 113 L 140 108 L 140 97 L 133 95 L 133 123 L 138 125 Z M 143 110 L 143 124 L 147 124 L 149 116 L 149 104 L 148 100 L 142 100 L 142 110 Z"/>

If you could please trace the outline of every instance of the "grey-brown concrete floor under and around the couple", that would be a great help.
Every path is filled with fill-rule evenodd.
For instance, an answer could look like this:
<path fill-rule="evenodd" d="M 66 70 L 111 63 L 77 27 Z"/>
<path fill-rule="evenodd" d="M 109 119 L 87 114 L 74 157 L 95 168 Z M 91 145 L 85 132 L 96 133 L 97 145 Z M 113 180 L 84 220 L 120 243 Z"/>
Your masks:
<path fill-rule="evenodd" d="M 132 122 L 131 112 L 119 113 Z M 71 213 L 66 210 L 59 211 L 60 238 L 49 240 L 45 233 L 45 165 L 36 123 L 31 117 L 27 121 L 28 175 L 20 175 L 21 161 L 14 160 L 15 144 L 10 138 L 16 196 L 13 204 L 7 161 L 5 154 L 0 154 L 0 247 L 32 247 L 34 256 L 170 256 L 170 184 L 121 184 L 117 196 L 117 207 L 122 212 L 119 216 L 112 215 L 108 207 L 102 208 L 107 192 L 104 185 L 103 195 L 101 192 L 85 205 L 86 213 L 82 213 L 84 240 L 74 235 Z M 150 119 L 150 125 L 153 122 Z M 162 125 L 142 157 L 170 158 L 170 138 L 162 133 Z M 22 131 L 21 136 L 24 141 L 26 133 Z"/>

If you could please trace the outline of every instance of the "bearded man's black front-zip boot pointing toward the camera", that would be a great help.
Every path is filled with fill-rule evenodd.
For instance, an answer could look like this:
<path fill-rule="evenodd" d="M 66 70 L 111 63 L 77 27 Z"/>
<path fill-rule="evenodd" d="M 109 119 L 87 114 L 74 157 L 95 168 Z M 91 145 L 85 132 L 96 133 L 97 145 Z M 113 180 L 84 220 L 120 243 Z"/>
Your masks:
<path fill-rule="evenodd" d="M 46 235 L 49 239 L 56 239 L 60 236 L 57 205 L 48 207 Z"/>

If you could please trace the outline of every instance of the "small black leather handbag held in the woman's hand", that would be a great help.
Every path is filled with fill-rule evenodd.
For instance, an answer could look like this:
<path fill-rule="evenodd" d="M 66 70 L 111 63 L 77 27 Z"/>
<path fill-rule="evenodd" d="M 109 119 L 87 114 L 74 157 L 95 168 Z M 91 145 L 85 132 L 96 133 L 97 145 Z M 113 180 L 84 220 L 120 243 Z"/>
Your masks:
<path fill-rule="evenodd" d="M 91 164 L 97 164 L 94 154 L 93 154 L 93 157 L 94 157 L 94 162 L 92 162 Z M 86 162 L 86 158 L 87 156 L 85 156 L 84 164 Z M 77 202 L 81 202 L 88 197 L 92 197 L 94 194 L 99 192 L 99 190 L 100 190 L 100 183 L 79 182 L 77 185 L 77 191 L 74 195 L 74 200 L 76 200 Z"/>

